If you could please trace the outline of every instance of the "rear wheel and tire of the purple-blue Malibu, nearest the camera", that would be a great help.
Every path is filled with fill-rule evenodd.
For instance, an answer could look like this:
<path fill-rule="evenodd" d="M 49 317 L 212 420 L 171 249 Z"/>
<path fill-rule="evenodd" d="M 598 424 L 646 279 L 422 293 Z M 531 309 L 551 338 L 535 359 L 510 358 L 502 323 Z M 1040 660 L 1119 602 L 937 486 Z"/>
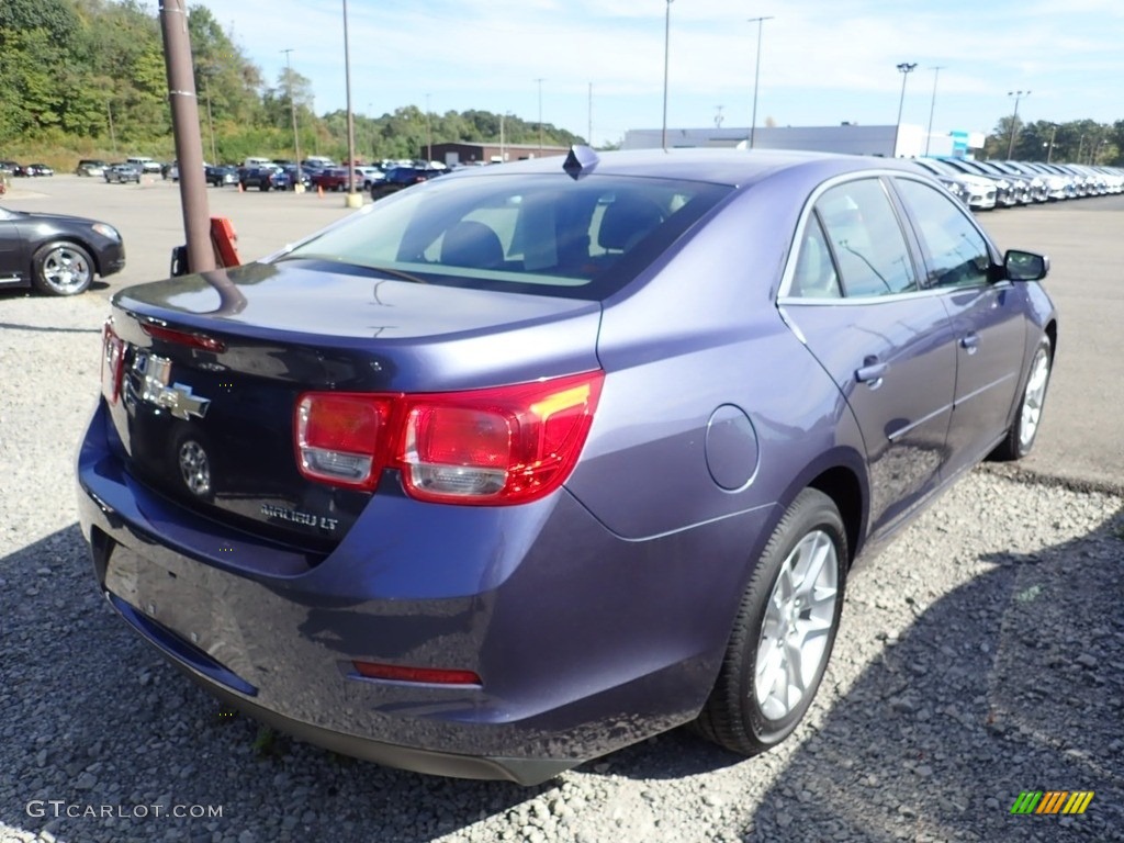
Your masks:
<path fill-rule="evenodd" d="M 847 560 L 839 508 L 805 489 L 781 517 L 742 596 L 696 731 L 743 755 L 765 752 L 792 733 L 831 658 Z"/>

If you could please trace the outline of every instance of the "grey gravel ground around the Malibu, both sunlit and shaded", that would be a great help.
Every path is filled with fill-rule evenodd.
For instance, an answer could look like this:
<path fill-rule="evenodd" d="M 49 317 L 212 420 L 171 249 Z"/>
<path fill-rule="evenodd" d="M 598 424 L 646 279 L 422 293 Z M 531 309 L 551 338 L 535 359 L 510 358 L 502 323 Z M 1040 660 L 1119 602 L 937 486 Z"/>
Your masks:
<path fill-rule="evenodd" d="M 0 843 L 1124 841 L 1109 490 L 961 481 L 852 580 L 819 698 L 768 755 L 677 731 L 537 788 L 427 778 L 227 715 L 96 593 L 72 474 L 103 315 L 0 294 Z M 1024 790 L 1096 796 L 1013 816 Z"/>

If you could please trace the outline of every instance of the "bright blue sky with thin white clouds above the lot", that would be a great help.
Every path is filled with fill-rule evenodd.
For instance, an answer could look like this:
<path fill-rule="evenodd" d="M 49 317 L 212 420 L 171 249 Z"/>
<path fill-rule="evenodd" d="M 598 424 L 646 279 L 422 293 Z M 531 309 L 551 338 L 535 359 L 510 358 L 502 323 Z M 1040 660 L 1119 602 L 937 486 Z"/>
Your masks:
<path fill-rule="evenodd" d="M 343 2 L 203 0 L 268 84 L 292 48 L 317 114 L 346 103 Z M 1124 119 L 1122 0 L 350 0 L 347 29 L 355 114 L 541 117 L 595 145 L 663 125 L 665 55 L 669 128 L 747 127 L 754 87 L 759 126 L 892 125 L 900 103 L 991 132 L 1017 92 L 1021 120 Z"/>

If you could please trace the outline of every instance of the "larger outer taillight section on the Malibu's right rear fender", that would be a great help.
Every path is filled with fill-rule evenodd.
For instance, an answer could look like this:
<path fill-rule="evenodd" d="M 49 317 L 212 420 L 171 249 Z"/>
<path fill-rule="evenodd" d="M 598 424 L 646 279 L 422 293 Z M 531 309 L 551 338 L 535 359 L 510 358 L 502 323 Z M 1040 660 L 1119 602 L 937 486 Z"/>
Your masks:
<path fill-rule="evenodd" d="M 406 491 L 448 504 L 522 504 L 578 462 L 601 372 L 472 392 L 407 396 L 397 462 Z"/>

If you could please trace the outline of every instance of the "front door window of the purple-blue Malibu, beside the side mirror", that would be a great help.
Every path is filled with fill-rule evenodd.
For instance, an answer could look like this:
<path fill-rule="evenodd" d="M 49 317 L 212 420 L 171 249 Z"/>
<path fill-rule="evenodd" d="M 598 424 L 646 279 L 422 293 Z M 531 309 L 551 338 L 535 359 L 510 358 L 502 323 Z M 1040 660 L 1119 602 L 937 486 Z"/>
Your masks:
<path fill-rule="evenodd" d="M 927 184 L 898 180 L 898 192 L 914 219 L 930 287 L 985 284 L 991 256 L 984 236 L 948 197 Z"/>

